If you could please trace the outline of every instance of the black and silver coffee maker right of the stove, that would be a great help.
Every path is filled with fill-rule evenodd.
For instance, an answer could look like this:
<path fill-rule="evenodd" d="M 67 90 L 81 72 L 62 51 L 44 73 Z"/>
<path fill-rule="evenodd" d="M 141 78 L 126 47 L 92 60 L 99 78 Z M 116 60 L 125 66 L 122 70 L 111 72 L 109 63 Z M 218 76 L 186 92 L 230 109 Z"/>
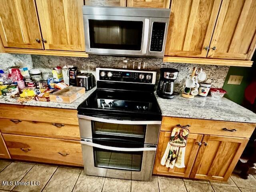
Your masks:
<path fill-rule="evenodd" d="M 177 78 L 178 73 L 179 71 L 173 68 L 160 69 L 160 80 L 156 90 L 158 96 L 165 99 L 174 98 L 174 80 Z"/>

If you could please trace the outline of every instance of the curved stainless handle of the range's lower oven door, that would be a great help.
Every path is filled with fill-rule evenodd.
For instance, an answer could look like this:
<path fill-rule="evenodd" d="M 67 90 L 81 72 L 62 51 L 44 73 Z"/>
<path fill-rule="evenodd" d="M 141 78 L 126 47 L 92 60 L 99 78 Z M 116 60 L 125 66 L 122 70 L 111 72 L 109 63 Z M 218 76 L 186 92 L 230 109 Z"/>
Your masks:
<path fill-rule="evenodd" d="M 92 140 L 84 140 L 80 141 L 81 144 L 97 147 L 100 149 L 106 149 L 106 150 L 112 150 L 112 151 L 156 151 L 156 146 L 149 145 L 148 147 L 144 148 L 123 148 L 123 147 L 112 147 L 112 146 L 106 146 L 106 145 L 100 145 L 97 143 L 93 143 Z"/>

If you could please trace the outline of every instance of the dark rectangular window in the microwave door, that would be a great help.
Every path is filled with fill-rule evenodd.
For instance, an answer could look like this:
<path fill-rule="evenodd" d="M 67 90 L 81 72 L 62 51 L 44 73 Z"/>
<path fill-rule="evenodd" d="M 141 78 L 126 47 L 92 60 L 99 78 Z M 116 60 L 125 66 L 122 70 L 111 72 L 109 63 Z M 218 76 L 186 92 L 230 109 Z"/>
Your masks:
<path fill-rule="evenodd" d="M 90 47 L 141 50 L 142 21 L 89 20 Z"/>

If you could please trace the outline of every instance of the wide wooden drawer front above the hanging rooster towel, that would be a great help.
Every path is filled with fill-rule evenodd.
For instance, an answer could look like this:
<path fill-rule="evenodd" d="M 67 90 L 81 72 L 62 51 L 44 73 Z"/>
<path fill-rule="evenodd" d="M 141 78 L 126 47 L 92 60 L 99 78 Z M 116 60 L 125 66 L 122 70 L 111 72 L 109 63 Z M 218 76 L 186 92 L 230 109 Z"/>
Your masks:
<path fill-rule="evenodd" d="M 256 126 L 256 124 L 252 123 L 163 117 L 161 131 L 171 131 L 172 128 L 177 124 L 190 125 L 190 133 L 234 136 L 243 138 L 250 138 Z M 228 130 L 236 129 L 236 131 L 230 132 L 228 130 L 222 130 L 222 128 L 226 128 Z"/>

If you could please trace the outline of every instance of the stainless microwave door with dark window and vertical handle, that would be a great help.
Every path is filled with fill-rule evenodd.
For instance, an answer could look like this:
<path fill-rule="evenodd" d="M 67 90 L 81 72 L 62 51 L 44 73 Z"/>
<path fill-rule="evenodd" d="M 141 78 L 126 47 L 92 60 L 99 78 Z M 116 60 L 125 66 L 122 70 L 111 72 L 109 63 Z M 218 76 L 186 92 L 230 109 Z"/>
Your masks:
<path fill-rule="evenodd" d="M 146 56 L 150 19 L 131 16 L 84 15 L 86 52 Z"/>

